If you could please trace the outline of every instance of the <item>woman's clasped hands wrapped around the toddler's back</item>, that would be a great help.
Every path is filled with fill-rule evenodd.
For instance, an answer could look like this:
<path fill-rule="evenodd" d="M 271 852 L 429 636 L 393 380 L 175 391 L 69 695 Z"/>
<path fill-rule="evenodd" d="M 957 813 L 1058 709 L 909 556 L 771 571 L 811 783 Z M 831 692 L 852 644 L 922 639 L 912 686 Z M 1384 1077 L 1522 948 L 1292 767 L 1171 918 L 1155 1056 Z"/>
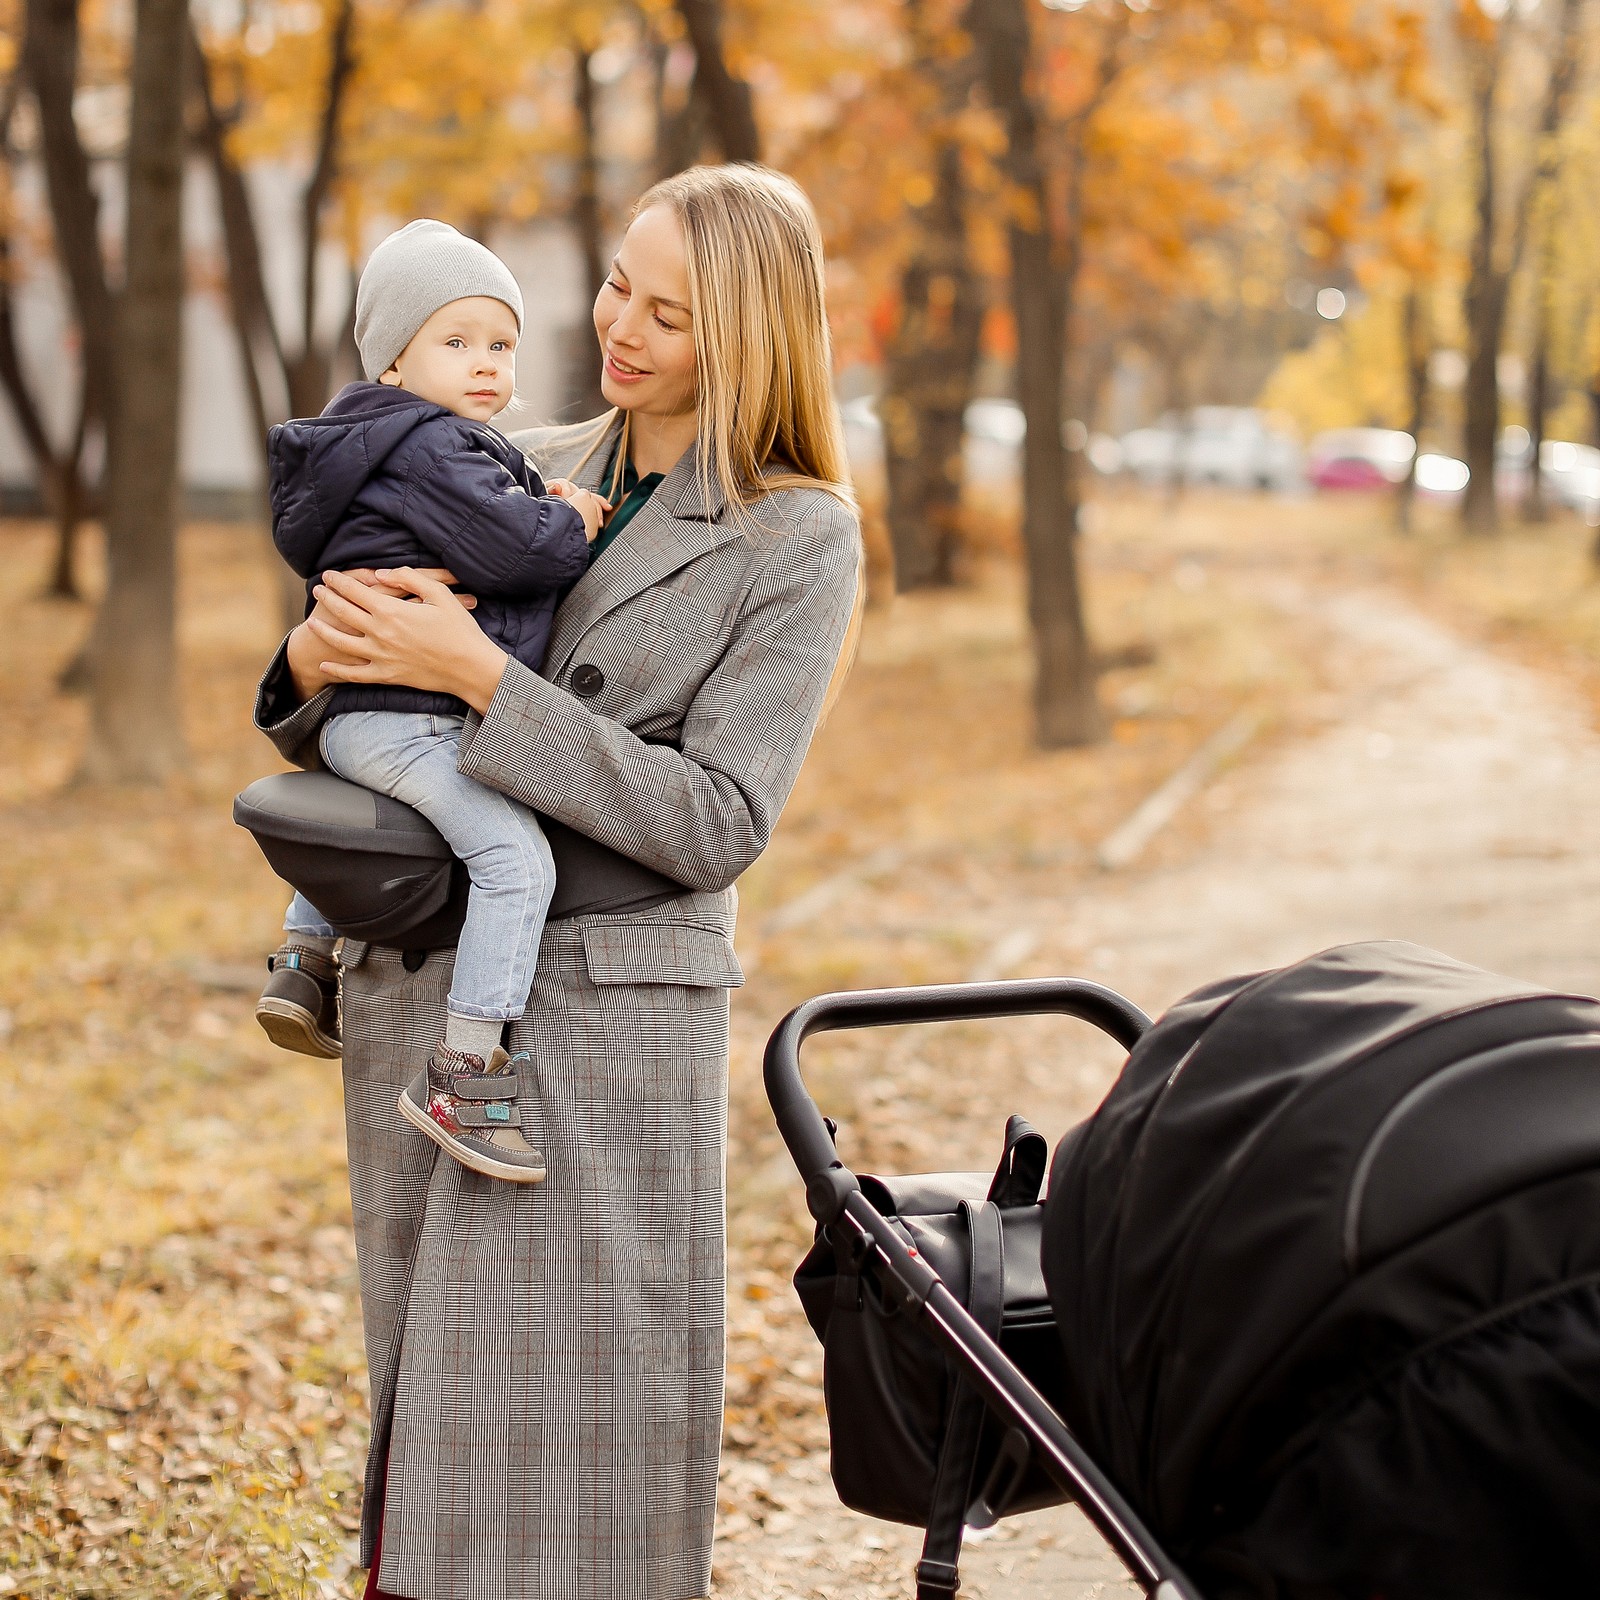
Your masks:
<path fill-rule="evenodd" d="M 475 602 L 458 597 L 435 571 L 397 566 L 373 574 L 323 573 L 312 592 L 317 608 L 296 634 L 306 630 L 317 640 L 315 688 L 400 683 L 454 694 L 474 710 L 488 710 L 509 658 L 472 621 Z M 296 654 L 309 659 L 312 653 L 290 637 L 291 670 Z M 298 670 L 294 683 L 301 686 Z"/>

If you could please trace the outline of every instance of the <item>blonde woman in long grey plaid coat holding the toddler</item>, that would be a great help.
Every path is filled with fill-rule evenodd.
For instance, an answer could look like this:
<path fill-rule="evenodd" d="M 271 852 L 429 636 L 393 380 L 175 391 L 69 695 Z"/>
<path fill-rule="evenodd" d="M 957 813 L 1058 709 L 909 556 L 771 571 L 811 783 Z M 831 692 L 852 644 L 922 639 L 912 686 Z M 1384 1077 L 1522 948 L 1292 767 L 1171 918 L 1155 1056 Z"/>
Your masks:
<path fill-rule="evenodd" d="M 462 771 L 685 885 L 546 931 L 510 1040 L 541 1186 L 435 1165 L 395 1112 L 451 952 L 346 946 L 373 1382 L 362 1549 L 373 1592 L 410 1600 L 709 1589 L 731 885 L 771 837 L 856 600 L 821 237 L 798 187 L 754 166 L 658 184 L 595 331 L 616 411 L 517 440 L 616 504 L 542 675 L 435 576 L 392 574 L 416 605 L 330 574 L 256 707 L 280 750 L 314 760 L 333 683 L 456 694 L 482 718 Z"/>

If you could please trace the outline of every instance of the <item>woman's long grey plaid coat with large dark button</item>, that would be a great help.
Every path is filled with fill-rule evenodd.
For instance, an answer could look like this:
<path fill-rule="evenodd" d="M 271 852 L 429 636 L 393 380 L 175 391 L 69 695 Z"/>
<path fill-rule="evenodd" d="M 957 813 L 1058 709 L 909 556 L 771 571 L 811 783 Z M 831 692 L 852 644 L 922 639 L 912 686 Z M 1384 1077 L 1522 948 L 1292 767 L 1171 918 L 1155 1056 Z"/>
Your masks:
<path fill-rule="evenodd" d="M 594 424 L 517 437 L 598 485 Z M 347 946 L 350 1200 L 373 1387 L 362 1525 L 411 1600 L 690 1600 L 710 1582 L 723 1376 L 733 880 L 762 853 L 838 659 L 859 528 L 770 494 L 749 538 L 693 451 L 515 661 L 461 768 L 690 891 L 552 923 L 512 1046 L 534 1187 L 435 1160 L 395 1099 L 443 1029 L 451 954 Z M 328 694 L 280 659 L 256 720 L 315 762 Z"/>

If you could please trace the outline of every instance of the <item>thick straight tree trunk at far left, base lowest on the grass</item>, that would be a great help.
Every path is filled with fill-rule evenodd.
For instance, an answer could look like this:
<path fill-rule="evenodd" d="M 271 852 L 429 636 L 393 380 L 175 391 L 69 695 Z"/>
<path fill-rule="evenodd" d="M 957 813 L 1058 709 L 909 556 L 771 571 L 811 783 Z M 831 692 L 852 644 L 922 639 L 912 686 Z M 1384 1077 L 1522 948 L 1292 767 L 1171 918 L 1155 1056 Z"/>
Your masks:
<path fill-rule="evenodd" d="M 109 584 L 83 763 L 85 776 L 102 781 L 158 782 L 182 757 L 174 613 L 186 27 L 186 0 L 138 0 Z"/>

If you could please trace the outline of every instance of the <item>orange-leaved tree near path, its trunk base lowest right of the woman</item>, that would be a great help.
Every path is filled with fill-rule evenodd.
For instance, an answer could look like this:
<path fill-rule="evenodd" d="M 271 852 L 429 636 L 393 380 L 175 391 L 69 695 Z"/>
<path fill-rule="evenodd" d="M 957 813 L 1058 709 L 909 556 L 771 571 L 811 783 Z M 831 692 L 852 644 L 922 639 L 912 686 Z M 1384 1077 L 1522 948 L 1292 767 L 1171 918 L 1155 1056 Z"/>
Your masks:
<path fill-rule="evenodd" d="M 1086 285 L 1098 277 L 1101 304 L 1122 301 L 1146 326 L 1173 326 L 1138 307 L 1141 282 L 1162 285 L 1187 307 L 1190 344 L 1197 326 L 1270 330 L 1272 318 L 1242 306 L 1261 274 L 1230 266 L 1274 211 L 1258 174 L 1298 171 L 1301 234 L 1320 235 L 1331 254 L 1368 205 L 1365 173 L 1386 141 L 1368 85 L 1398 91 L 1419 29 L 1406 6 L 1275 0 L 1061 0 L 1037 10 L 1005 0 L 974 5 L 968 26 L 1005 128 L 1037 731 L 1045 744 L 1080 742 L 1101 717 L 1061 397 L 1085 392 L 1094 355 Z M 1218 318 L 1229 301 L 1251 315 Z"/>

